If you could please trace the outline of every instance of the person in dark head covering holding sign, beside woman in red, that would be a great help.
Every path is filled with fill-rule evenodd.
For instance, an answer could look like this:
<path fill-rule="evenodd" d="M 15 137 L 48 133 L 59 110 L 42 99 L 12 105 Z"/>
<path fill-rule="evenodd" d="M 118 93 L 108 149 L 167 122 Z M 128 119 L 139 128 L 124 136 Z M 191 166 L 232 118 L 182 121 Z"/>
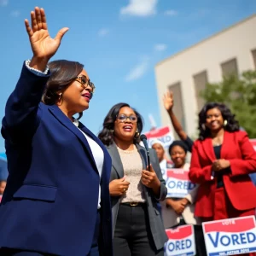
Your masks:
<path fill-rule="evenodd" d="M 189 171 L 189 163 L 186 163 L 188 148 L 183 141 L 174 141 L 169 147 L 173 166 L 172 169 Z M 166 180 L 167 183 L 167 180 Z M 195 201 L 198 186 L 195 185 L 188 195 L 183 198 L 166 198 L 162 202 L 162 218 L 166 229 L 176 228 L 184 224 L 193 224 L 195 230 L 196 255 L 207 255 L 204 236 L 201 227 L 201 219 L 194 216 Z"/>

